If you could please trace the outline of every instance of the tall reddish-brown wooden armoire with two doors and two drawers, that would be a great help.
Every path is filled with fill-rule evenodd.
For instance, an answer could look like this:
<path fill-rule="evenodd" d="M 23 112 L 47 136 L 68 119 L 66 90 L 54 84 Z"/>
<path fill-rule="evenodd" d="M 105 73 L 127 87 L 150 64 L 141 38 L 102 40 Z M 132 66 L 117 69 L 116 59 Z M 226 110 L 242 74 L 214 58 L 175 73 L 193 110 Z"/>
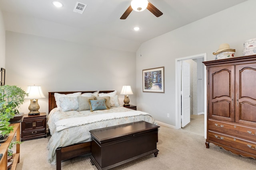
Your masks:
<path fill-rule="evenodd" d="M 256 55 L 203 62 L 207 69 L 207 139 L 256 158 Z"/>

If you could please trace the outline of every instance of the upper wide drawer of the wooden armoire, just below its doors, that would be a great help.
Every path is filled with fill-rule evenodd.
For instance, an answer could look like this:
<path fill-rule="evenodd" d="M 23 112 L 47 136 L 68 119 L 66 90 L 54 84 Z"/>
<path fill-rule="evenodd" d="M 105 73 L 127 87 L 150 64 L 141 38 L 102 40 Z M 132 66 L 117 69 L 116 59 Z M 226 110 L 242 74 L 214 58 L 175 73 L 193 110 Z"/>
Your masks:
<path fill-rule="evenodd" d="M 215 121 L 209 119 L 208 121 L 209 131 L 216 131 L 220 133 L 226 133 L 234 135 L 236 137 L 242 137 L 256 142 L 256 129 L 251 127 L 245 127 L 242 125 L 225 123 L 222 121 Z"/>

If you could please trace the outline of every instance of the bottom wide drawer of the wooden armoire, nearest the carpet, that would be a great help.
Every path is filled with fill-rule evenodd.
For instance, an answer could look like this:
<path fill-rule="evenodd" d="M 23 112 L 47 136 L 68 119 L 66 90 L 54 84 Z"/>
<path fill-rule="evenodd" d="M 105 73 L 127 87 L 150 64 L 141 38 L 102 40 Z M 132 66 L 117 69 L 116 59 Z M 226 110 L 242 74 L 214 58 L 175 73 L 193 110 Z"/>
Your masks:
<path fill-rule="evenodd" d="M 237 150 L 243 150 L 244 152 L 248 152 L 256 156 L 256 143 L 252 141 L 246 141 L 213 131 L 209 131 L 209 141 L 220 143 Z"/>

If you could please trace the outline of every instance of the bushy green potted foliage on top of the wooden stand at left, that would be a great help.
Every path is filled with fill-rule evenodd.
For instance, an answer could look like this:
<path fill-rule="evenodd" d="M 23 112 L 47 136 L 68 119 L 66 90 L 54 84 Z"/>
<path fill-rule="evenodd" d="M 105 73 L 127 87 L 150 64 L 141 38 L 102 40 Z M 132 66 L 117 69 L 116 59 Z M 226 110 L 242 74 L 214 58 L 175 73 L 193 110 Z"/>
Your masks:
<path fill-rule="evenodd" d="M 25 96 L 28 94 L 17 86 L 0 86 L 0 140 L 13 130 L 9 125 L 12 120 L 16 121 L 14 117 L 22 119 L 24 113 L 20 118 L 18 108 L 23 104 Z"/>

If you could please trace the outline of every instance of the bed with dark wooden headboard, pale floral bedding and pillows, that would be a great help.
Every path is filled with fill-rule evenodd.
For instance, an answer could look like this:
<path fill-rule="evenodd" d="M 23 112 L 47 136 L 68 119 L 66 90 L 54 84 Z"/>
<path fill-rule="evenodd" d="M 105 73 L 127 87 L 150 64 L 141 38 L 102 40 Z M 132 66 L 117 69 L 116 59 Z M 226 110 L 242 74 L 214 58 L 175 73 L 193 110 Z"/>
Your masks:
<path fill-rule="evenodd" d="M 48 162 L 56 164 L 57 170 L 61 169 L 61 162 L 64 160 L 90 154 L 91 137 L 89 131 L 92 129 L 141 120 L 157 124 L 154 118 L 148 113 L 120 106 L 115 90 L 48 92 L 48 94 L 49 115 L 47 117 L 47 123 L 50 134 L 52 135 L 47 146 L 47 149 L 49 150 Z M 57 96 L 57 94 L 59 96 Z M 97 109 L 93 108 L 91 105 L 90 110 L 81 110 L 83 106 L 82 102 L 84 102 L 82 99 L 84 99 L 84 96 L 90 98 L 87 95 L 91 95 L 94 98 L 93 100 L 90 100 L 90 102 L 101 102 L 103 100 L 106 106 L 111 106 L 107 107 L 107 109 Z M 70 110 L 70 107 L 75 105 L 72 102 L 70 104 L 70 100 L 72 99 L 73 101 L 74 98 L 78 99 L 78 109 L 75 110 L 76 108 L 71 108 Z M 63 102 L 66 100 L 68 100 L 68 102 Z M 59 106 L 62 106 L 61 109 Z"/>

